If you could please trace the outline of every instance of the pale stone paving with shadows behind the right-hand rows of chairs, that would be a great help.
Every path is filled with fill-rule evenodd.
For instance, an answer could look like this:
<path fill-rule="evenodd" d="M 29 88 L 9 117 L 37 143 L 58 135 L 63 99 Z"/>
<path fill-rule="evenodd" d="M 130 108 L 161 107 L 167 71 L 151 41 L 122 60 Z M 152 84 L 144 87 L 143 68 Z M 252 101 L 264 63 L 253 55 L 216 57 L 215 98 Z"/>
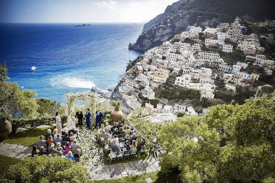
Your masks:
<path fill-rule="evenodd" d="M 157 170 L 160 170 L 159 161 L 153 157 L 127 163 L 88 167 L 88 172 L 95 180 L 116 179 Z"/>

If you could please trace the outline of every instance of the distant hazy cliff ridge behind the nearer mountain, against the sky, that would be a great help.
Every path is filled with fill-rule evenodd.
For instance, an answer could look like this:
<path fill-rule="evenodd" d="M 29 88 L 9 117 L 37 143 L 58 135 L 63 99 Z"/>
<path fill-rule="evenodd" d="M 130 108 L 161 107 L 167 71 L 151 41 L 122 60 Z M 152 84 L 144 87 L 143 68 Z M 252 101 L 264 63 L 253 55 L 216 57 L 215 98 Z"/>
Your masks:
<path fill-rule="evenodd" d="M 180 0 L 178 2 L 174 2 L 172 5 L 167 6 L 164 13 L 159 14 L 158 16 L 150 20 L 148 23 L 144 24 L 142 32 L 149 30 L 154 25 L 163 21 L 168 15 L 170 15 L 172 11 L 177 10 L 178 7 L 182 4 L 182 2 L 185 2 L 185 1 L 187 0 Z"/>

